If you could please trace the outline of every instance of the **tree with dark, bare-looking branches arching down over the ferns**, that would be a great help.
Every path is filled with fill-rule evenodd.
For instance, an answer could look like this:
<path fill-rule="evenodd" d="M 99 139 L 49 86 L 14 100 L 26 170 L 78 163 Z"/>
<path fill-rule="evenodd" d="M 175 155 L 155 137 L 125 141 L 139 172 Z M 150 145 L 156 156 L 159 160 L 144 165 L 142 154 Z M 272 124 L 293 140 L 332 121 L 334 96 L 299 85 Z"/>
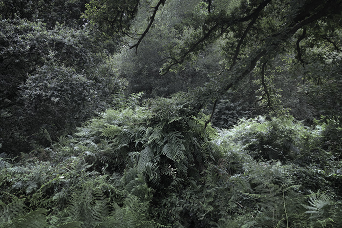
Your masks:
<path fill-rule="evenodd" d="M 125 64 L 118 68 L 122 68 L 124 74 L 129 68 L 139 69 L 139 73 L 147 72 L 137 77 L 137 73 L 128 71 L 135 80 L 133 84 L 141 84 L 155 75 L 149 83 L 152 84 L 158 81 L 157 68 L 163 65 L 160 68 L 164 76 L 162 79 L 165 80 L 163 83 L 170 84 L 172 80 L 182 80 L 180 75 L 186 70 L 192 72 L 189 69 L 195 66 L 199 72 L 196 76 L 200 75 L 196 78 L 197 82 L 202 84 L 197 86 L 206 91 L 200 95 L 206 97 L 203 97 L 203 101 L 215 103 L 215 100 L 223 99 L 228 90 L 232 90 L 230 96 L 240 97 L 239 102 L 248 103 L 248 109 L 256 109 L 256 115 L 265 108 L 272 112 L 289 108 L 291 114 L 310 122 L 319 116 L 320 108 L 310 105 L 314 103 L 312 98 L 318 96 L 311 97 L 305 92 L 297 94 L 293 91 L 303 91 L 302 86 L 298 86 L 300 83 L 314 89 L 318 81 L 324 83 L 336 75 L 340 64 L 337 56 L 340 56 L 341 50 L 341 23 L 338 22 L 341 21 L 341 7 L 340 0 L 193 0 L 186 5 L 172 0 L 139 1 L 136 20 L 130 24 L 130 30 L 125 32 L 128 36 L 124 42 L 126 48 L 138 50 L 139 47 L 142 53 L 139 54 L 138 50 L 137 57 L 133 58 L 139 60 L 139 63 L 146 63 L 143 68 L 135 67 L 139 63 L 134 62 L 130 67 Z M 154 53 L 144 54 L 144 50 L 153 50 L 151 46 L 157 47 Z M 320 51 L 322 61 L 311 61 L 310 58 L 321 48 L 324 49 Z M 206 72 L 208 65 L 200 61 L 213 51 L 221 52 L 222 55 L 216 55 L 218 60 Z M 123 56 L 131 58 L 126 52 L 122 51 Z M 312 53 L 312 57 L 309 53 Z M 333 61 L 331 56 L 334 56 Z M 213 56 L 205 59 L 205 62 L 211 59 Z M 217 62 L 220 64 L 215 65 Z M 322 77 L 317 75 L 318 72 L 308 62 L 330 66 L 322 67 L 324 70 L 319 73 L 324 72 L 325 76 Z M 172 74 L 176 72 L 175 77 L 170 77 L 170 71 Z M 305 75 L 302 74 L 304 72 Z M 315 74 L 317 76 L 313 77 Z M 137 78 L 143 80 L 137 82 Z M 312 82 L 314 78 L 316 83 Z M 177 87 L 186 90 L 182 86 Z M 248 97 L 248 101 L 243 99 L 247 96 L 241 96 L 244 88 L 256 91 L 251 94 L 253 98 Z M 140 86 L 137 89 L 153 94 L 152 88 Z M 240 95 L 236 94 L 239 92 Z M 324 99 L 325 102 L 321 104 L 335 101 L 332 94 Z M 304 113 L 300 111 L 302 107 L 305 107 Z"/>

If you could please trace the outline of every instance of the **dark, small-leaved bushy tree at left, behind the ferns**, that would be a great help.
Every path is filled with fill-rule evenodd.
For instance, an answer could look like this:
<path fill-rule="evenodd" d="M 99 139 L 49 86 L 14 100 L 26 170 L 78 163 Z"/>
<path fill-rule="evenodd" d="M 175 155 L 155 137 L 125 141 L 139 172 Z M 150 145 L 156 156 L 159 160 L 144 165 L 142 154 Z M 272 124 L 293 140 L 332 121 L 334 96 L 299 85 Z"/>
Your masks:
<path fill-rule="evenodd" d="M 42 22 L 2 20 L 0 35 L 3 151 L 18 155 L 49 145 L 120 96 L 125 82 L 88 30 Z"/>

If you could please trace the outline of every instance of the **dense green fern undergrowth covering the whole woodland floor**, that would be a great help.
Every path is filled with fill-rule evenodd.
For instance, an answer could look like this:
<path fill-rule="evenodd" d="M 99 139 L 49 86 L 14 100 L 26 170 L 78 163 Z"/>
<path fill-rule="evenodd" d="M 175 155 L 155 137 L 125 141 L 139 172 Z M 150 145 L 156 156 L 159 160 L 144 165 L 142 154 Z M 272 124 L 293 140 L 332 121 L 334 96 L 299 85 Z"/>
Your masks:
<path fill-rule="evenodd" d="M 259 116 L 215 129 L 183 95 L 137 98 L 47 148 L 1 154 L 0 227 L 342 223 L 338 123 Z"/>

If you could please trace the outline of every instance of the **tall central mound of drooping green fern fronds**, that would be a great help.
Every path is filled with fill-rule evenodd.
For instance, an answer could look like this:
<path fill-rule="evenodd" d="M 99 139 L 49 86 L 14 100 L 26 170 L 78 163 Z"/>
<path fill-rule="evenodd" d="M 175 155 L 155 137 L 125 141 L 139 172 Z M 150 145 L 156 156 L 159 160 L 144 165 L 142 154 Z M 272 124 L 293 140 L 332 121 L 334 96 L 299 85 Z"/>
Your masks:
<path fill-rule="evenodd" d="M 118 172 L 123 171 L 129 158 L 126 167 L 146 172 L 146 179 L 153 185 L 161 185 L 159 180 L 164 175 L 170 180 L 189 177 L 193 175 L 189 167 L 198 172 L 215 155 L 208 147 L 203 122 L 191 116 L 193 111 L 179 105 L 181 102 L 184 98 L 179 95 L 148 102 L 148 108 L 107 110 L 101 119 L 80 128 L 78 135 L 87 139 L 84 142 L 99 145 L 90 152 L 95 157 L 107 157 L 108 166 Z"/>

